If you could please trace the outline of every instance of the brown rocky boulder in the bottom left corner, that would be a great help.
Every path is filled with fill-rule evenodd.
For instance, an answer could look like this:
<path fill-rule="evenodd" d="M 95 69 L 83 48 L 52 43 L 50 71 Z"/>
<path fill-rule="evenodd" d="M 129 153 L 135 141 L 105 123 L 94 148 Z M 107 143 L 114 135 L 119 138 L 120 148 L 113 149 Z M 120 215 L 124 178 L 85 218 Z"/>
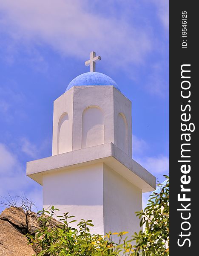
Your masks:
<path fill-rule="evenodd" d="M 59 227 L 60 222 L 52 218 L 51 226 Z M 0 256 L 36 255 L 25 235 L 34 234 L 39 228 L 36 213 L 27 214 L 22 208 L 6 208 L 0 214 Z"/>

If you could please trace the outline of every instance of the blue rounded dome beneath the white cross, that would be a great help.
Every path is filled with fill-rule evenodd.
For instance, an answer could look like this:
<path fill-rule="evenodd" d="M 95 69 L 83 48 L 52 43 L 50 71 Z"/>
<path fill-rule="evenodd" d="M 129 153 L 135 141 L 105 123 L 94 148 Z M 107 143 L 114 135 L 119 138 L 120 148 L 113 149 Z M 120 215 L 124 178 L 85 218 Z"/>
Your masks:
<path fill-rule="evenodd" d="M 119 87 L 117 86 L 116 82 L 109 76 L 106 76 L 105 74 L 99 72 L 87 72 L 74 78 L 70 82 L 70 84 L 68 84 L 65 91 L 71 89 L 73 86 L 83 85 L 113 85 L 115 88 L 117 88 L 117 90 L 119 90 Z"/>

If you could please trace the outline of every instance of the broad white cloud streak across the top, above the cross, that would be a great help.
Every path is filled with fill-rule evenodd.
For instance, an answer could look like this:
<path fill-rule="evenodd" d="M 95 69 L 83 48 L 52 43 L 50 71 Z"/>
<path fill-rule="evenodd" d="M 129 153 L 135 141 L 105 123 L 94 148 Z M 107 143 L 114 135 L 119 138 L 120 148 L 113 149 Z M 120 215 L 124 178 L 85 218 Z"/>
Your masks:
<path fill-rule="evenodd" d="M 0 0 L 1 27 L 17 44 L 48 44 L 82 60 L 91 50 L 117 67 L 140 63 L 151 50 L 148 28 L 124 17 L 89 12 L 89 1 Z M 110 2 L 114 5 L 114 2 Z M 117 59 L 117 61 L 115 61 Z"/>

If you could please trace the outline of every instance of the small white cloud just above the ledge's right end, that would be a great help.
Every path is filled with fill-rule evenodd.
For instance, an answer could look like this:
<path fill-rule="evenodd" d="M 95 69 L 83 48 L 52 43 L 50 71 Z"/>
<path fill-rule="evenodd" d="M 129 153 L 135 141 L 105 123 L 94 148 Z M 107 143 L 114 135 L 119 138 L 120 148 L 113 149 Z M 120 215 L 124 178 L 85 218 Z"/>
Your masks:
<path fill-rule="evenodd" d="M 153 175 L 168 175 L 169 158 L 165 156 L 137 158 L 136 161 Z"/>

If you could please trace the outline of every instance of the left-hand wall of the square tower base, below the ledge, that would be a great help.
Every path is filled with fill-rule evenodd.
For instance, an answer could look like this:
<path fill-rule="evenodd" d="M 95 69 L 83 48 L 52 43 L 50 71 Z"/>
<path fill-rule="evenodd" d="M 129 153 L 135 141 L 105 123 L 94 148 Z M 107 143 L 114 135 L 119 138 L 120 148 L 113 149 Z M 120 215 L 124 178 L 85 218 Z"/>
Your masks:
<path fill-rule="evenodd" d="M 54 205 L 57 215 L 70 212 L 77 222 L 93 220 L 91 232 L 103 234 L 103 164 L 68 169 L 43 176 L 43 207 Z M 72 220 L 72 218 L 71 218 Z"/>

